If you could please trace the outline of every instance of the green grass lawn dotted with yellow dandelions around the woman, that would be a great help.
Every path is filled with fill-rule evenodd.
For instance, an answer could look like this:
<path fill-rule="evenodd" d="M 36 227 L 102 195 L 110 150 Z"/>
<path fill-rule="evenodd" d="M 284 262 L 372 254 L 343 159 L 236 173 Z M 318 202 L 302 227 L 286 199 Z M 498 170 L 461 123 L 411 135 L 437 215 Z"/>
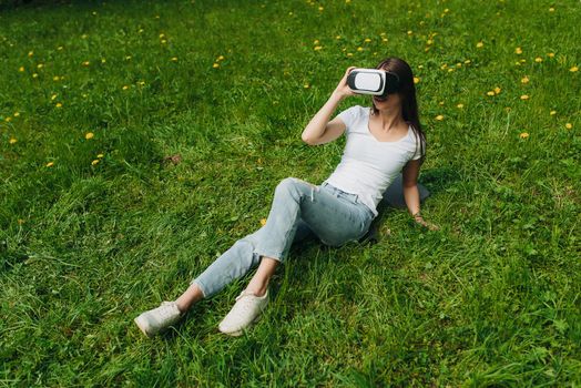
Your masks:
<path fill-rule="evenodd" d="M 574 0 L 3 6 L 0 381 L 581 385 L 580 19 Z M 145 339 L 132 319 L 259 227 L 282 178 L 330 174 L 343 141 L 300 132 L 347 67 L 388 55 L 420 79 L 441 231 L 385 208 L 375 245 L 293 251 L 248 335 L 216 329 L 243 279 Z"/>

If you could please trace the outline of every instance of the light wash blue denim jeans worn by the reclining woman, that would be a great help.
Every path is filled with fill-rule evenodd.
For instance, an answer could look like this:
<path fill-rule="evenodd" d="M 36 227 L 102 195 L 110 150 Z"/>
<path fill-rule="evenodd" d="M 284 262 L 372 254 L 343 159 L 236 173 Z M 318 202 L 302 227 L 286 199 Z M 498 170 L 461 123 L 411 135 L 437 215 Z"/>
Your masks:
<path fill-rule="evenodd" d="M 290 245 L 312 235 L 324 244 L 339 246 L 365 235 L 374 213 L 358 201 L 327 183 L 320 186 L 287 177 L 277 186 L 266 224 L 238 239 L 192 280 L 205 297 L 256 266 L 262 256 L 284 262 Z"/>

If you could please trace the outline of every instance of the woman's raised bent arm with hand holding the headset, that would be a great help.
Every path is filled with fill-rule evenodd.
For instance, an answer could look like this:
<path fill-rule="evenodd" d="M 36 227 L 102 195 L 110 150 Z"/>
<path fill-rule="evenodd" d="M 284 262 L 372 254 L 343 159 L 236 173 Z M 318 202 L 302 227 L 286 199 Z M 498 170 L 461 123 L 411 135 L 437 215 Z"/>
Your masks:
<path fill-rule="evenodd" d="M 300 135 L 305 143 L 309 145 L 328 143 L 338 139 L 345 132 L 345 123 L 340 119 L 335 118 L 332 121 L 329 119 L 345 98 L 355 94 L 347 85 L 347 75 L 349 75 L 351 69 L 355 68 L 347 69 L 325 105 L 308 122 Z"/>

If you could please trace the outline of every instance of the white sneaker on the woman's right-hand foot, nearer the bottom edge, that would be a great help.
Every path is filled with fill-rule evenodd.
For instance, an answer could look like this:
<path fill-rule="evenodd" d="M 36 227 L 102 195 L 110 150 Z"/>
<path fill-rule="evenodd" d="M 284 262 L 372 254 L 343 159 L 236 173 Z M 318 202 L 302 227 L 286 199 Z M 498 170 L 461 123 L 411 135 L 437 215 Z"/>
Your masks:
<path fill-rule="evenodd" d="M 218 330 L 230 336 L 237 337 L 258 319 L 261 313 L 268 304 L 268 290 L 263 296 L 242 292 L 236 297 L 236 303 L 218 325 Z"/>

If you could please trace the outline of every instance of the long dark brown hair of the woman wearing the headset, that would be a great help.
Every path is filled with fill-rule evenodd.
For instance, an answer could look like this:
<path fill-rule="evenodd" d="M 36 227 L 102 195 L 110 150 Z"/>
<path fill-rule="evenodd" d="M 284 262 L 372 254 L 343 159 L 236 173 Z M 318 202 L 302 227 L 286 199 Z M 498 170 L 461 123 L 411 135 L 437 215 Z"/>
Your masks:
<path fill-rule="evenodd" d="M 420 146 L 421 159 L 426 156 L 426 134 L 421 129 L 419 122 L 418 101 L 416 99 L 416 86 L 414 84 L 414 73 L 406 61 L 399 58 L 386 58 L 376 67 L 376 69 L 386 70 L 396 73 L 399 76 L 399 91 L 397 92 L 401 99 L 401 111 L 404 120 L 411 124 L 411 130 L 416 136 L 416 143 Z M 379 113 L 375 103 L 373 103 L 371 112 Z"/>

